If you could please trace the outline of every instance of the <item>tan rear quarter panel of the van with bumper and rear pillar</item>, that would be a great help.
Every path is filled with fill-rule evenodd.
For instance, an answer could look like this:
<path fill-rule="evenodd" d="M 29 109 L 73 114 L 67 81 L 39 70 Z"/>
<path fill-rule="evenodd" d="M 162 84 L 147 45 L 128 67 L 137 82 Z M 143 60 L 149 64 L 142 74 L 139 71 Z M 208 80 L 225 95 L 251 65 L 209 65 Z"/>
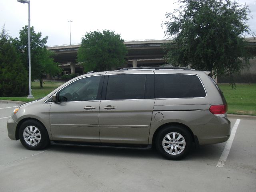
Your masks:
<path fill-rule="evenodd" d="M 161 74 L 163 71 L 156 71 Z M 213 115 L 211 105 L 224 104 L 216 86 L 204 72 L 195 72 L 200 78 L 207 96 L 205 98 L 156 99 L 149 135 L 149 144 L 156 130 L 169 123 L 186 125 L 199 144 L 214 144 L 226 141 L 230 136 L 230 122 L 226 117 Z"/>

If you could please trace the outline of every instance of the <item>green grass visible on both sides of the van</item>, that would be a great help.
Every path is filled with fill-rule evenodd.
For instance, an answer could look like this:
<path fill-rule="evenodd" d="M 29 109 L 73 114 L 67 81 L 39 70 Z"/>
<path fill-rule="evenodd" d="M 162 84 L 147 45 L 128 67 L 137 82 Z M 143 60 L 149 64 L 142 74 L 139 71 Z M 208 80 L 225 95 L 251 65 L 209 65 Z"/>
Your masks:
<path fill-rule="evenodd" d="M 26 97 L 0 97 L 0 100 L 31 101 L 44 97 L 62 82 L 45 82 L 40 88 L 39 82 L 32 82 L 34 99 Z M 218 84 L 228 102 L 228 114 L 256 115 L 256 84 L 237 84 L 236 89 L 231 89 L 229 84 Z"/>

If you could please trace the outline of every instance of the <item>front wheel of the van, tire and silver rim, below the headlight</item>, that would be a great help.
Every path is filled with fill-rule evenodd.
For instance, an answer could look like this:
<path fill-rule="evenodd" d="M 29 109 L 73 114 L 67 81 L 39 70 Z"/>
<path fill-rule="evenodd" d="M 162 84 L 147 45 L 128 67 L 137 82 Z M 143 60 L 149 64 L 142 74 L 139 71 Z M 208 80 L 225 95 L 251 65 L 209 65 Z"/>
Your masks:
<path fill-rule="evenodd" d="M 35 120 L 26 120 L 19 129 L 20 142 L 29 150 L 42 150 L 50 144 L 46 128 Z"/>

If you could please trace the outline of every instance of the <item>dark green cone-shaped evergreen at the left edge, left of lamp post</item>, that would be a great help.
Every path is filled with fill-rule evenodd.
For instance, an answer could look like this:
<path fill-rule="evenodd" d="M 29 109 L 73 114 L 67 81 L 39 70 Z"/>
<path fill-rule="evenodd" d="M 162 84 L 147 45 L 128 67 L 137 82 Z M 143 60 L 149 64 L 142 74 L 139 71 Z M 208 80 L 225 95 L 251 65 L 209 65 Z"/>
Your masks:
<path fill-rule="evenodd" d="M 0 32 L 0 97 L 28 94 L 28 72 L 4 27 Z"/>

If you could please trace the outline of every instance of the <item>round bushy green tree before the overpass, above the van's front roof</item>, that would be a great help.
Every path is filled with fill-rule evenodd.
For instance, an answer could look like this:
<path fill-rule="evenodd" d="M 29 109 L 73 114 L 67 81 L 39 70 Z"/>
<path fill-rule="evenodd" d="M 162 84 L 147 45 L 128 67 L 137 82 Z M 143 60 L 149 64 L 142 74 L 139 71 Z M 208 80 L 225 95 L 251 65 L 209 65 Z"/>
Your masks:
<path fill-rule="evenodd" d="M 84 71 L 105 71 L 119 67 L 126 62 L 127 48 L 124 40 L 114 31 L 86 32 L 78 49 L 78 62 Z"/>

